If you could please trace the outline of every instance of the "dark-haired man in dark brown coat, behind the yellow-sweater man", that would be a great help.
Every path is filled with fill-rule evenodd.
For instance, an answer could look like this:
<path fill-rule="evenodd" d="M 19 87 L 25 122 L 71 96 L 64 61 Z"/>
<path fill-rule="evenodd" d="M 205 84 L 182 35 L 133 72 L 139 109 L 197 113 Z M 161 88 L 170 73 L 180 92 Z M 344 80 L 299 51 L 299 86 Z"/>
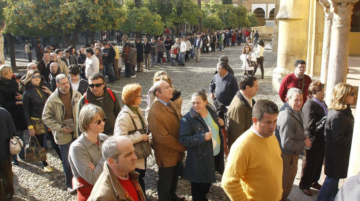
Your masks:
<path fill-rule="evenodd" d="M 245 75 L 239 82 L 240 90 L 231 101 L 228 112 L 228 148 L 238 139 L 238 137 L 247 131 L 253 124 L 252 107 L 255 100 L 252 99 L 259 89 L 257 79 L 251 75 Z"/>

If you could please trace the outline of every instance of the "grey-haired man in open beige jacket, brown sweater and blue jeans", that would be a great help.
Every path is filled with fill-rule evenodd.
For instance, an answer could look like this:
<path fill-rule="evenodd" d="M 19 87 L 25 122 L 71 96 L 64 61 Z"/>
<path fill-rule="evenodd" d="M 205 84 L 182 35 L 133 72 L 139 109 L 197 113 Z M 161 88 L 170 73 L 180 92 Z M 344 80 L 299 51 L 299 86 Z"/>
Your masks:
<path fill-rule="evenodd" d="M 68 155 L 71 143 L 77 138 L 77 130 L 75 129 L 77 121 L 74 120 L 81 93 L 72 89 L 65 74 L 57 75 L 55 80 L 57 88 L 46 101 L 42 113 L 42 120 L 44 124 L 51 129 L 55 142 L 60 147 L 66 179 L 65 185 L 68 192 L 73 193 L 76 191 L 72 190 L 71 180 L 73 174 L 71 172 Z"/>

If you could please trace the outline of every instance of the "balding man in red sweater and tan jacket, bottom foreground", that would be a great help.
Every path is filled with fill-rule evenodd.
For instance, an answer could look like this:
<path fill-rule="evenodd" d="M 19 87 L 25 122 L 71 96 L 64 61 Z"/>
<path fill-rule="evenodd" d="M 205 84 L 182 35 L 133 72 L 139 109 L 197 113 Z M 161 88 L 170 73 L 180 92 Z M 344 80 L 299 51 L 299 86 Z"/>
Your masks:
<path fill-rule="evenodd" d="M 131 140 L 124 136 L 112 136 L 103 143 L 102 154 L 106 163 L 88 201 L 146 201 L 138 181 L 139 173 L 134 171 L 138 159 L 134 150 Z"/>

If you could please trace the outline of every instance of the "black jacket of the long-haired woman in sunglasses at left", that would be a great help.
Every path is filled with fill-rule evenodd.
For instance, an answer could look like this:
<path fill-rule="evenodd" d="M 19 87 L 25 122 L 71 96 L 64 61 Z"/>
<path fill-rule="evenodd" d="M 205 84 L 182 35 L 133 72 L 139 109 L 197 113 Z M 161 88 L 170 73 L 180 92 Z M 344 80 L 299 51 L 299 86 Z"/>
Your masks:
<path fill-rule="evenodd" d="M 48 84 L 44 83 L 44 86 L 51 90 Z M 41 96 L 39 92 L 41 93 Z M 48 100 L 49 96 L 50 95 L 48 93 L 42 91 L 41 86 L 32 85 L 31 89 L 25 91 L 23 95 L 23 108 L 24 116 L 28 126 L 32 125 L 30 119 L 31 117 L 39 119 L 42 118 L 42 110 L 44 110 L 46 100 Z"/>

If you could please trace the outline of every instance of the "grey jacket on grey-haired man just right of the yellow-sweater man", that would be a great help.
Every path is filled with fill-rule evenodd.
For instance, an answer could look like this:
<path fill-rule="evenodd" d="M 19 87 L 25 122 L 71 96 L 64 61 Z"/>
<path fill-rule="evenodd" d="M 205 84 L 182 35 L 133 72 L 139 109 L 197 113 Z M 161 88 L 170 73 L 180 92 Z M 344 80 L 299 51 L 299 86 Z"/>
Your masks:
<path fill-rule="evenodd" d="M 286 102 L 279 110 L 275 136 L 283 154 L 297 155 L 305 147 L 302 118 Z"/>

